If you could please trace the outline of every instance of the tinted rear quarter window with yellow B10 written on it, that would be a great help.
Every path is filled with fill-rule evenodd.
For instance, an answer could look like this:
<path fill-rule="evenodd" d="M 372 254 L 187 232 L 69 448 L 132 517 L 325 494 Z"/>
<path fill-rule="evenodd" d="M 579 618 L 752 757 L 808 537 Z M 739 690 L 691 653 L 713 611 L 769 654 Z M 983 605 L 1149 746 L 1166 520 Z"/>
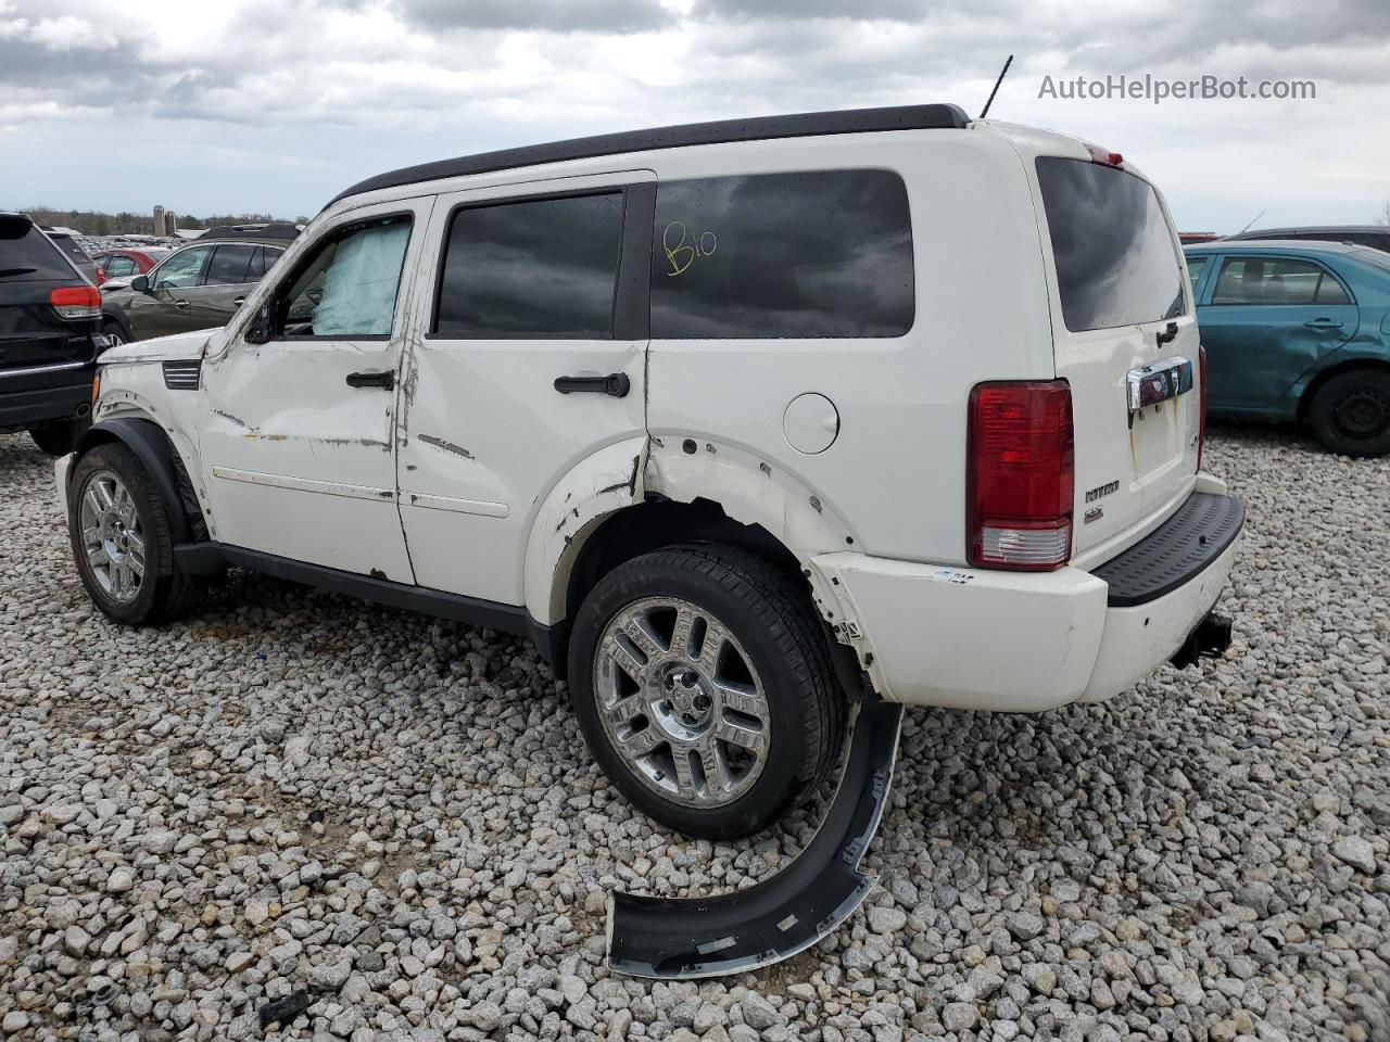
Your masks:
<path fill-rule="evenodd" d="M 884 169 L 662 182 L 652 336 L 902 336 L 913 321 L 912 221 Z"/>

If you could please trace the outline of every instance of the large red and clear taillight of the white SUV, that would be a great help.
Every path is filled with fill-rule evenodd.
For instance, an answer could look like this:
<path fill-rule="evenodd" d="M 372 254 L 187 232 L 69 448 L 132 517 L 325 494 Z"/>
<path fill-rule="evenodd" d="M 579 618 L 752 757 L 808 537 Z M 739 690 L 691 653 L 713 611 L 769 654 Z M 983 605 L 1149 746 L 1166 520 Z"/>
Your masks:
<path fill-rule="evenodd" d="M 1065 564 L 1076 483 L 1066 381 L 976 385 L 966 453 L 970 564 L 1023 571 Z"/>

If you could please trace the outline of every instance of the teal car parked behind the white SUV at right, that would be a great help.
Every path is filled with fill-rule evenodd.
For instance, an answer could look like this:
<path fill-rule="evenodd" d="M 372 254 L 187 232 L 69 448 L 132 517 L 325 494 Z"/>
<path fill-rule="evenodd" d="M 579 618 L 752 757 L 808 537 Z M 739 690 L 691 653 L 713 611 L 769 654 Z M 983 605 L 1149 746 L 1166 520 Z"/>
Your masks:
<path fill-rule="evenodd" d="M 1390 452 L 1390 254 L 1304 240 L 1184 253 L 1212 415 L 1305 422 L 1347 456 Z"/>

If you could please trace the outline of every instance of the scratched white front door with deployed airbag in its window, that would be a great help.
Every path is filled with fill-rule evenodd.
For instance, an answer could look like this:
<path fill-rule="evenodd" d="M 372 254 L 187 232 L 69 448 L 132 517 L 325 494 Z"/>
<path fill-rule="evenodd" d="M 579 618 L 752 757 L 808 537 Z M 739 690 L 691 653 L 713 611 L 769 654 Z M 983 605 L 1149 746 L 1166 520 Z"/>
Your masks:
<path fill-rule="evenodd" d="M 350 211 L 281 265 L 274 332 L 203 363 L 199 447 L 217 538 L 411 582 L 392 432 L 428 200 Z"/>

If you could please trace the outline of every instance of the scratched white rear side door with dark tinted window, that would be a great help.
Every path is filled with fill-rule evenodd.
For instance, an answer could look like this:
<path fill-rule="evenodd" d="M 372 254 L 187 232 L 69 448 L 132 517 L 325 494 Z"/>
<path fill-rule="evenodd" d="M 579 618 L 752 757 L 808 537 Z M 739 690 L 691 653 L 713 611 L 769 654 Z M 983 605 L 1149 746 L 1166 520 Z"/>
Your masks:
<path fill-rule="evenodd" d="M 396 447 L 421 586 L 521 604 L 546 492 L 645 431 L 653 183 L 623 171 L 435 204 L 424 249 L 436 292 L 413 308 Z M 589 379 L 560 393 L 562 377 Z"/>

